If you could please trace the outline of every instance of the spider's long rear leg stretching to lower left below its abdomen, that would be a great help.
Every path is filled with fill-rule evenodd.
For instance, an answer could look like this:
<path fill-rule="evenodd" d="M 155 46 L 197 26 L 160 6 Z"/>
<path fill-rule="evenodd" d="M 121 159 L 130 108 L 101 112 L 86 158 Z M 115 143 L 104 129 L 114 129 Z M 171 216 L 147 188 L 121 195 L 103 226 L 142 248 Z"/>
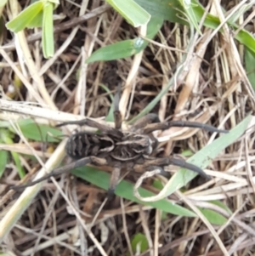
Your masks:
<path fill-rule="evenodd" d="M 36 185 L 37 183 L 42 182 L 43 180 L 46 180 L 50 177 L 57 176 L 59 174 L 68 173 L 71 171 L 71 169 L 82 167 L 84 165 L 87 165 L 88 163 L 94 163 L 95 165 L 106 165 L 107 164 L 107 162 L 104 158 L 99 158 L 99 157 L 95 157 L 95 156 L 84 157 L 82 159 L 77 160 L 76 162 L 71 162 L 69 164 L 66 164 L 63 167 L 55 168 L 50 174 L 46 174 L 40 179 L 31 181 L 31 182 L 27 183 L 26 185 L 14 185 L 14 186 L 11 186 L 10 189 L 13 189 L 14 191 L 22 190 L 22 189 L 25 189 L 26 187 Z"/>

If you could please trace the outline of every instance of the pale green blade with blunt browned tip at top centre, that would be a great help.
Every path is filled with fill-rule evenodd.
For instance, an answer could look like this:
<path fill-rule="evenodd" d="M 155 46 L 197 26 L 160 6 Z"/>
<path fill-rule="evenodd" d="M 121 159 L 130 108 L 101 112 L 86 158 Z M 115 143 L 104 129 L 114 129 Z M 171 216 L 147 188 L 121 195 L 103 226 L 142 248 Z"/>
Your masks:
<path fill-rule="evenodd" d="M 134 27 L 146 25 L 150 14 L 133 0 L 106 0 L 116 11 Z"/>

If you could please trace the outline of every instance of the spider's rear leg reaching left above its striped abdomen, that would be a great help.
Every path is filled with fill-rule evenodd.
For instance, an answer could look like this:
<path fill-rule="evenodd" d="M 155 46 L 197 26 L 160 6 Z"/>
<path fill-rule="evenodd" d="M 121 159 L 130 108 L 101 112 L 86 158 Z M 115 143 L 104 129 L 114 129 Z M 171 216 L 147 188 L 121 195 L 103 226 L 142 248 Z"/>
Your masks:
<path fill-rule="evenodd" d="M 61 127 L 64 125 L 69 125 L 69 124 L 76 124 L 76 125 L 80 125 L 80 126 L 87 125 L 92 128 L 97 128 L 105 134 L 111 134 L 111 135 L 114 135 L 115 137 L 120 137 L 120 138 L 122 138 L 122 136 L 123 136 L 122 132 L 119 131 L 118 129 L 111 128 L 105 124 L 96 122 L 89 118 L 77 120 L 77 121 L 71 121 L 71 122 L 61 122 L 58 125 L 56 125 L 56 127 Z"/>

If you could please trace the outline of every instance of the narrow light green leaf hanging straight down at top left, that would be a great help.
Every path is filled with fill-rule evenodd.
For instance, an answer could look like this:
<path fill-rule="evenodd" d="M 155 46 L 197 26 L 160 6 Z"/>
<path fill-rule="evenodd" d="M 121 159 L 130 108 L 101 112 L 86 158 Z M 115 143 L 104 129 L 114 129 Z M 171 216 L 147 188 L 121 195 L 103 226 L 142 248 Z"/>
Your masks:
<path fill-rule="evenodd" d="M 42 52 L 44 58 L 54 55 L 54 26 L 53 26 L 54 3 L 45 3 L 42 19 Z"/>

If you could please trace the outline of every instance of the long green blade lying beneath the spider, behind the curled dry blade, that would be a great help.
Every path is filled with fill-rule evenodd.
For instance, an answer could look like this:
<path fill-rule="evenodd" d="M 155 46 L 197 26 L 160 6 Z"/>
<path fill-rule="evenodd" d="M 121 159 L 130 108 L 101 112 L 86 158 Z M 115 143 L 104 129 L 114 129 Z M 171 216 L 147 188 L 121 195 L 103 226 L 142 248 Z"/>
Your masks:
<path fill-rule="evenodd" d="M 83 167 L 77 168 L 71 172 L 81 179 L 85 179 L 88 182 L 99 186 L 102 189 L 108 190 L 109 182 L 110 182 L 110 174 L 99 171 L 96 168 L 92 167 Z M 115 191 L 117 196 L 122 196 L 133 202 L 138 202 L 144 205 L 150 205 L 153 208 L 160 209 L 161 211 L 165 211 L 167 213 L 172 213 L 178 216 L 187 216 L 187 217 L 195 217 L 195 213 L 190 210 L 178 206 L 173 202 L 170 202 L 166 199 L 157 201 L 157 202 L 141 202 L 135 196 L 133 196 L 133 184 L 127 182 L 126 180 L 122 180 L 116 187 Z M 154 196 L 154 194 L 150 191 L 144 190 L 143 188 L 139 188 L 139 193 L 142 196 Z"/>

